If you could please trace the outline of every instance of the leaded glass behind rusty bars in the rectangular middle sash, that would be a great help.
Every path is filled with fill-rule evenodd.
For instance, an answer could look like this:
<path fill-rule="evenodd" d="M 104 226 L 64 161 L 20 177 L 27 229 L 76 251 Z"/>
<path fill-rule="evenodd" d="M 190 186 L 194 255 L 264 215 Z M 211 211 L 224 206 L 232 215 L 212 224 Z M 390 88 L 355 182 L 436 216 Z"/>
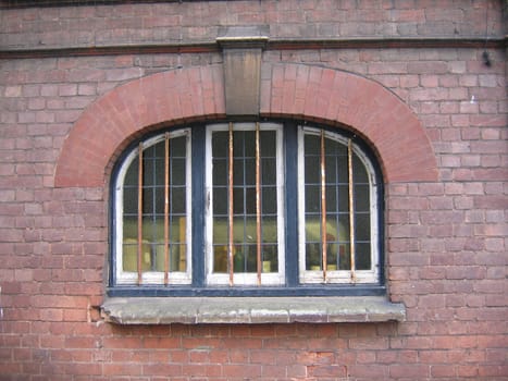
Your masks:
<path fill-rule="evenodd" d="M 256 131 L 233 132 L 230 162 L 228 131 L 212 133 L 213 272 L 228 273 L 228 210 L 233 202 L 233 271 L 257 272 Z M 262 272 L 277 272 L 276 133 L 259 132 L 259 197 L 261 200 Z M 233 199 L 228 174 L 233 165 Z"/>

